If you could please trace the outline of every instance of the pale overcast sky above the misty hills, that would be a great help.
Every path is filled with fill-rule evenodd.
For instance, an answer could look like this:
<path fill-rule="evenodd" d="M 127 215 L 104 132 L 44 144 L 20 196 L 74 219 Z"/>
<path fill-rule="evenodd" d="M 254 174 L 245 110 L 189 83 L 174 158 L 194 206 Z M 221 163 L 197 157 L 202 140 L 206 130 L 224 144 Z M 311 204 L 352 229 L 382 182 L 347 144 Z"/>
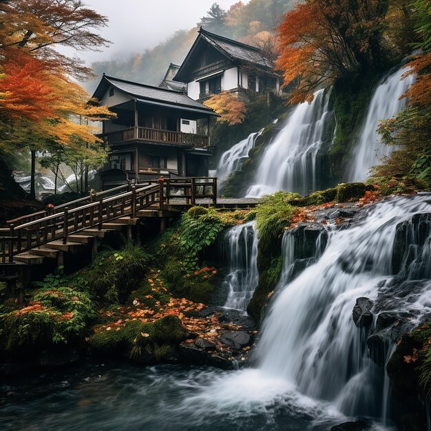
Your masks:
<path fill-rule="evenodd" d="M 176 30 L 193 28 L 215 0 L 84 0 L 109 19 L 102 36 L 114 42 L 103 52 L 78 52 L 87 62 L 153 48 Z M 225 10 L 238 0 L 217 0 Z M 243 3 L 248 3 L 243 0 Z"/>

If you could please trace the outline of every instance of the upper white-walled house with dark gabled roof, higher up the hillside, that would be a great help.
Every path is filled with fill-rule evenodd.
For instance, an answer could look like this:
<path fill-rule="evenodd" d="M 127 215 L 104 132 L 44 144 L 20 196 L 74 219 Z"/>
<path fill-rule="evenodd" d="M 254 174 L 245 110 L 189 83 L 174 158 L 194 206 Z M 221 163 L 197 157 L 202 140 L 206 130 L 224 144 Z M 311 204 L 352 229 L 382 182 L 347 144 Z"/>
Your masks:
<path fill-rule="evenodd" d="M 222 91 L 280 91 L 280 78 L 264 51 L 202 28 L 173 79 L 187 83 L 187 94 L 196 101 Z"/>

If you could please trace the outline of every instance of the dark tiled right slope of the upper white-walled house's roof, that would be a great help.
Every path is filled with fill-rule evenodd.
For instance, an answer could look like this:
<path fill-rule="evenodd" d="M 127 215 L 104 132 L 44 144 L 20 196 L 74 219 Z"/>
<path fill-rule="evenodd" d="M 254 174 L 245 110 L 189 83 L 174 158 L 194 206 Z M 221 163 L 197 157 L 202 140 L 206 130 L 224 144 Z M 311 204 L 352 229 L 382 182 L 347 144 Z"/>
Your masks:
<path fill-rule="evenodd" d="M 200 29 L 200 35 L 215 48 L 219 48 L 226 52 L 231 59 L 248 61 L 256 63 L 264 67 L 272 67 L 271 62 L 264 58 L 262 50 L 245 43 L 227 39 L 227 37 L 219 36 L 207 30 Z"/>

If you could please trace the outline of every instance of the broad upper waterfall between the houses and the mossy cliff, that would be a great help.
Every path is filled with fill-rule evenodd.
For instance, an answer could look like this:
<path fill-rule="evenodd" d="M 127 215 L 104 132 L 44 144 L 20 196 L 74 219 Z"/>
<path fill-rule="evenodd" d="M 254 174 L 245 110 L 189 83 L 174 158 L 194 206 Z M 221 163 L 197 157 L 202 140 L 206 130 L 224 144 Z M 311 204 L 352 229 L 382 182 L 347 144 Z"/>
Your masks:
<path fill-rule="evenodd" d="M 284 189 L 307 194 L 317 187 L 318 154 L 329 114 L 330 92 L 319 90 L 311 104 L 297 105 L 266 149 L 248 198 Z"/>

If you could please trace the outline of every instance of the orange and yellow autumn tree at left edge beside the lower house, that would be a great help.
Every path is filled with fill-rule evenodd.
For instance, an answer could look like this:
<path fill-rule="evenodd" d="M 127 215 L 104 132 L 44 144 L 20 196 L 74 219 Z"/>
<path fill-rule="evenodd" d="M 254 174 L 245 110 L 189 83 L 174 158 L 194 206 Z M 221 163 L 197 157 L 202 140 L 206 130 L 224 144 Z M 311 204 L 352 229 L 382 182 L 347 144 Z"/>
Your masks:
<path fill-rule="evenodd" d="M 87 103 L 90 96 L 71 76 L 88 78 L 91 70 L 56 48 L 98 50 L 108 41 L 93 30 L 107 19 L 79 0 L 6 0 L 0 20 L 0 149 L 30 149 L 34 197 L 36 151 L 52 143 L 81 156 L 83 148 L 101 150 L 87 120 L 114 114 Z"/>

